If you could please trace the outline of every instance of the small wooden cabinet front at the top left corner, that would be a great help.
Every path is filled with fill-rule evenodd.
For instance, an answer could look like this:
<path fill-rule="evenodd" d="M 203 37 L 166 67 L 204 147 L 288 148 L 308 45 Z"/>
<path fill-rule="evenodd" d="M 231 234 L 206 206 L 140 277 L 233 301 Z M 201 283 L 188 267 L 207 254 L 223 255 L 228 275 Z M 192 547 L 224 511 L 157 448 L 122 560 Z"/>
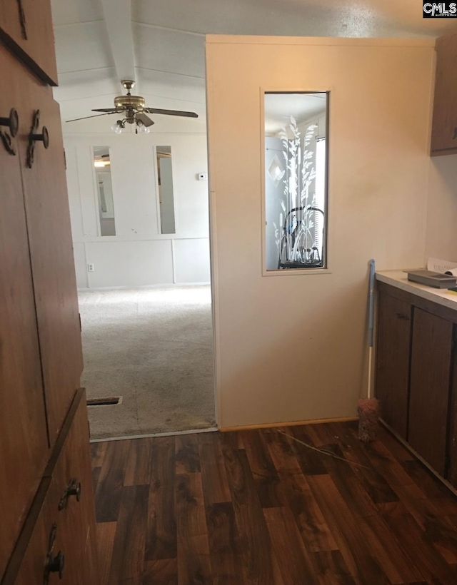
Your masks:
<path fill-rule="evenodd" d="M 0 39 L 46 83 L 57 85 L 48 0 L 0 0 Z"/>

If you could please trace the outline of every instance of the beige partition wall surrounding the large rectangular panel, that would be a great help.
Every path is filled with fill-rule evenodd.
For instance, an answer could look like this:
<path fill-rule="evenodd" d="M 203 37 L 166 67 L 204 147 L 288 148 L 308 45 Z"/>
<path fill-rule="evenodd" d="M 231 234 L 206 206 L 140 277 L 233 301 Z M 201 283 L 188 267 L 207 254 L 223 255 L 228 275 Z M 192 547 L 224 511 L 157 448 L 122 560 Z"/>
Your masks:
<path fill-rule="evenodd" d="M 209 36 L 206 55 L 219 424 L 351 417 L 368 260 L 425 255 L 433 41 Z M 262 91 L 331 92 L 321 273 L 263 275 Z"/>

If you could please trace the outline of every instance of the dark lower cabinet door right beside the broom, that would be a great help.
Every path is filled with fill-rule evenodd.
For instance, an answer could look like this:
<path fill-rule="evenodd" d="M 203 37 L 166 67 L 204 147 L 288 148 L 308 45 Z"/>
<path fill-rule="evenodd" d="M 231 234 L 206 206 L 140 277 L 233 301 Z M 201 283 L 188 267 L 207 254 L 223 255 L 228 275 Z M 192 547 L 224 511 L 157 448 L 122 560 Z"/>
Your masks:
<path fill-rule="evenodd" d="M 406 439 L 411 305 L 385 292 L 378 296 L 375 392 L 381 418 Z"/>

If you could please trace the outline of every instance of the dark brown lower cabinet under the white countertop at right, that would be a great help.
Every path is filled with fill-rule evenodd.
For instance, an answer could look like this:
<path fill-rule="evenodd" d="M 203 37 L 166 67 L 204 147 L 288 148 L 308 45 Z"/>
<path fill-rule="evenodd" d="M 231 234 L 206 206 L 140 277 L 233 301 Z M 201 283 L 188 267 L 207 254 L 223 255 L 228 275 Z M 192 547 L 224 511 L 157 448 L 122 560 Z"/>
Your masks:
<path fill-rule="evenodd" d="M 457 487 L 457 305 L 443 307 L 386 283 L 377 288 L 381 419 Z"/>

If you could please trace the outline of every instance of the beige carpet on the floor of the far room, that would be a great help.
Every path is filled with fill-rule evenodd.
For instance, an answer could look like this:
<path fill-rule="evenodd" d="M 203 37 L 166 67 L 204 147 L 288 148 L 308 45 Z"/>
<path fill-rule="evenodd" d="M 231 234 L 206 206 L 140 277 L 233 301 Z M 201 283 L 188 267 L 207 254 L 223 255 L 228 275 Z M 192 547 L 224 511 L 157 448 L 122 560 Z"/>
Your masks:
<path fill-rule="evenodd" d="M 80 291 L 91 438 L 214 427 L 211 290 Z"/>

